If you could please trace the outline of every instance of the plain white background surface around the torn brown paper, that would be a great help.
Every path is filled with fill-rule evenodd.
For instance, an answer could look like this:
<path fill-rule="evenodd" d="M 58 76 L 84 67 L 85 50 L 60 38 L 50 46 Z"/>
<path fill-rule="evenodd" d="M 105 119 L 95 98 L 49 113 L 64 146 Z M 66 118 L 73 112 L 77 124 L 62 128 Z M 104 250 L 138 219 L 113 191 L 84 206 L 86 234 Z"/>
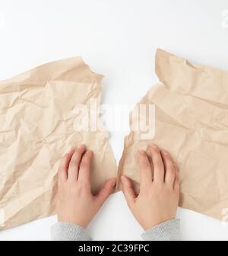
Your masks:
<path fill-rule="evenodd" d="M 0 0 L 0 79 L 81 55 L 106 75 L 103 103 L 136 104 L 158 81 L 157 47 L 228 69 L 227 9 L 227 0 Z M 123 136 L 111 133 L 117 162 Z M 228 225 L 220 221 L 189 210 L 178 216 L 184 239 L 228 240 Z M 0 240 L 49 239 L 55 221 L 53 216 L 2 231 Z M 89 229 L 95 240 L 140 239 L 142 232 L 121 193 L 109 198 Z"/>

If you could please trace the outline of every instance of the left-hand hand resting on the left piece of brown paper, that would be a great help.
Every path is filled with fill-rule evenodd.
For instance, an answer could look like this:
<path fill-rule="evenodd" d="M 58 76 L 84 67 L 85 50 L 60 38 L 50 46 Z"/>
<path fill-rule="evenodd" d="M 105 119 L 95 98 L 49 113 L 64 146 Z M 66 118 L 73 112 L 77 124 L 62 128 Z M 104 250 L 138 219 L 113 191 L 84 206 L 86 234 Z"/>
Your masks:
<path fill-rule="evenodd" d="M 93 196 L 90 189 L 92 157 L 93 153 L 82 145 L 71 149 L 60 162 L 56 206 L 60 222 L 73 222 L 86 228 L 115 187 L 116 178 L 112 178 Z"/>

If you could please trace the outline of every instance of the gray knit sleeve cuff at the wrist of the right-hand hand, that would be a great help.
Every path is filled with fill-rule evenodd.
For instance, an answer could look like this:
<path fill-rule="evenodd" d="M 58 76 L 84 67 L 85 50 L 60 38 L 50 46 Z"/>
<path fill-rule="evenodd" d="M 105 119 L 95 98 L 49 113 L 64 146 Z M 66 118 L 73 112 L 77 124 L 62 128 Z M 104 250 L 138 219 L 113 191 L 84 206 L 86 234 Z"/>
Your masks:
<path fill-rule="evenodd" d="M 180 220 L 171 219 L 144 232 L 145 241 L 179 241 L 182 240 Z"/>

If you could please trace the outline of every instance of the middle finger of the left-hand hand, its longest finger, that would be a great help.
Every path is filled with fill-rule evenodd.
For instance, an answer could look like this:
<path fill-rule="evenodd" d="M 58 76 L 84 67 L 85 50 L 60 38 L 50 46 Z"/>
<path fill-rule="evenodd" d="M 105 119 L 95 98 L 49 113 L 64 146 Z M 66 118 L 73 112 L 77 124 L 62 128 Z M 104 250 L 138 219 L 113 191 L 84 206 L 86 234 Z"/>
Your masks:
<path fill-rule="evenodd" d="M 78 149 L 74 150 L 74 154 L 71 157 L 71 161 L 69 163 L 68 168 L 68 180 L 69 181 L 77 181 L 78 179 L 78 168 L 81 162 L 81 157 L 84 154 L 86 148 L 84 145 L 78 147 Z"/>

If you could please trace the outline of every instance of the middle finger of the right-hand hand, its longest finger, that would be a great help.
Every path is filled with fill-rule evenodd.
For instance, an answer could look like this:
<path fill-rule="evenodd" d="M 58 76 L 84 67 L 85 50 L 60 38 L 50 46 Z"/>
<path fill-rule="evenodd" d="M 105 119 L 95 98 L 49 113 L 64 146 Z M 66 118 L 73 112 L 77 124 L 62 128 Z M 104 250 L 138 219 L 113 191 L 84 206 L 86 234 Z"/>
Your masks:
<path fill-rule="evenodd" d="M 154 169 L 154 182 L 164 182 L 163 159 L 160 155 L 160 149 L 157 145 L 150 146 L 152 165 Z"/>

